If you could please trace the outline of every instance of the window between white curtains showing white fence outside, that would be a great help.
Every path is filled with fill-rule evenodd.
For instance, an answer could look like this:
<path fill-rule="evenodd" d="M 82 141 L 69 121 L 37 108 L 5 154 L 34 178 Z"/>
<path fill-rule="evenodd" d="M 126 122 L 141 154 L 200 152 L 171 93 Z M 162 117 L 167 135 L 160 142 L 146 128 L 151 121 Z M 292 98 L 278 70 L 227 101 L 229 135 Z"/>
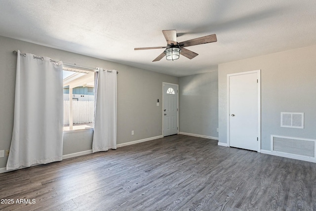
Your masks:
<path fill-rule="evenodd" d="M 64 68 L 64 131 L 93 127 L 94 72 Z M 72 104 L 72 106 L 70 106 Z"/>

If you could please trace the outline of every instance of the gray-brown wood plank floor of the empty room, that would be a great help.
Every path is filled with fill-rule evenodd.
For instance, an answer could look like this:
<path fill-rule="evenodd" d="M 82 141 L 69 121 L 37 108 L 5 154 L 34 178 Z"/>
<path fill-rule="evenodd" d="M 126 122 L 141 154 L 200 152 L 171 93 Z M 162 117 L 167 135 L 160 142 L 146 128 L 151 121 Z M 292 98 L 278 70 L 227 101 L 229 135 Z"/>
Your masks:
<path fill-rule="evenodd" d="M 316 164 L 173 135 L 2 173 L 0 199 L 14 200 L 1 211 L 316 211 Z"/>

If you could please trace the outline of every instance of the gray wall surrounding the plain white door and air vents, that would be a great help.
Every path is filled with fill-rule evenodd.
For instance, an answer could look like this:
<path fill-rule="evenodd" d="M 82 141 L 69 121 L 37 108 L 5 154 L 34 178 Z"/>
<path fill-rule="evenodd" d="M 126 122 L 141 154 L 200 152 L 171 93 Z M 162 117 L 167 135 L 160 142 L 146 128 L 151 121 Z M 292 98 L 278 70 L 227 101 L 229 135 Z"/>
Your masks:
<path fill-rule="evenodd" d="M 271 134 L 316 138 L 316 46 L 218 66 L 219 142 L 227 143 L 227 74 L 261 69 L 261 149 Z M 304 129 L 280 127 L 280 112 L 304 112 Z"/>

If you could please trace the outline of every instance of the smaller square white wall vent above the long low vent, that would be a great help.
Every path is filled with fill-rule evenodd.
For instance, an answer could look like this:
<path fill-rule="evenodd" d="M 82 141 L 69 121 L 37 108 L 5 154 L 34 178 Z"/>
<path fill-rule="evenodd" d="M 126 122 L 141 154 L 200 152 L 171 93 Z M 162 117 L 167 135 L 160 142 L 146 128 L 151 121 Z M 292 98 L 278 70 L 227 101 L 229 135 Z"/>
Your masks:
<path fill-rule="evenodd" d="M 281 112 L 281 127 L 304 128 L 304 113 Z"/>

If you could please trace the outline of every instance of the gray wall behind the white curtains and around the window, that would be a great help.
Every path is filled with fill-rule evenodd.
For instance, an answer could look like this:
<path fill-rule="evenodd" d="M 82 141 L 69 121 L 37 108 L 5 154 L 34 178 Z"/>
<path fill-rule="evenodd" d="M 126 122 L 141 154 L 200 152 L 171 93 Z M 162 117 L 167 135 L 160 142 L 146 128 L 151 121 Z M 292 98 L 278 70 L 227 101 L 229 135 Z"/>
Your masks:
<path fill-rule="evenodd" d="M 18 49 L 79 66 L 117 70 L 118 144 L 162 134 L 162 106 L 156 106 L 156 102 L 162 102 L 162 82 L 178 84 L 177 77 L 1 36 L 0 46 L 0 150 L 9 149 L 11 143 L 16 72 L 16 55 L 12 51 Z M 92 134 L 93 131 L 64 134 L 63 154 L 90 150 Z M 6 166 L 6 161 L 7 157 L 0 158 L 0 168 Z"/>

